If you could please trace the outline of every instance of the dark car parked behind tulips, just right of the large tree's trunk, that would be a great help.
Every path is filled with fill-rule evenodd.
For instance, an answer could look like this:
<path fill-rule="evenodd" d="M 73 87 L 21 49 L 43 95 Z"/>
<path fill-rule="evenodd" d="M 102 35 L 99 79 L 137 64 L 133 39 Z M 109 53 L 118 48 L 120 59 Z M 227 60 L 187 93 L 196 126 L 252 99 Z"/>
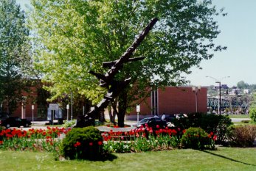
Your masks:
<path fill-rule="evenodd" d="M 166 120 L 161 120 L 159 117 L 146 117 L 139 121 L 137 127 L 141 127 L 142 125 L 145 127 L 145 124 L 148 124 L 148 127 L 156 128 L 156 125 L 159 125 L 159 128 L 167 127 Z"/>

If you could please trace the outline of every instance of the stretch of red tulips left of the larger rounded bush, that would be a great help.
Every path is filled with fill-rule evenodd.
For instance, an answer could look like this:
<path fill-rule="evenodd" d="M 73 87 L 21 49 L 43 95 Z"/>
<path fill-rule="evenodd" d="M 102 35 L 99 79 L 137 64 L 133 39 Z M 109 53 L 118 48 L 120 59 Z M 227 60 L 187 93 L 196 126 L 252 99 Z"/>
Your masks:
<path fill-rule="evenodd" d="M 58 127 L 47 127 L 46 130 L 31 128 L 28 131 L 3 129 L 0 131 L 0 149 L 57 151 L 60 145 L 58 137 L 67 131 Z"/>

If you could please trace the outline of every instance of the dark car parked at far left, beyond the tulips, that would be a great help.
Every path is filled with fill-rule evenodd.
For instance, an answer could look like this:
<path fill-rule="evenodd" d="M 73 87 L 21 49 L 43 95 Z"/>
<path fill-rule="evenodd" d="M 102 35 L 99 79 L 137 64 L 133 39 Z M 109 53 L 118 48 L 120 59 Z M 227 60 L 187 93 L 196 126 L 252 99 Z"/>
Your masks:
<path fill-rule="evenodd" d="M 29 127 L 31 122 L 27 119 L 21 119 L 19 117 L 2 117 L 0 119 L 0 125 L 6 128 L 10 127 Z"/>

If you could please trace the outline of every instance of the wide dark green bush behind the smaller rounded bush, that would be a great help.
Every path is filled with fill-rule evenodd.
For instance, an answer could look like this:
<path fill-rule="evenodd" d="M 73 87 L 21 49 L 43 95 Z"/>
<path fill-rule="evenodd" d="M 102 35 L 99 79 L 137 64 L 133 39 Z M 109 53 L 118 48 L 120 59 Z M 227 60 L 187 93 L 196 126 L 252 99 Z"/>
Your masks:
<path fill-rule="evenodd" d="M 213 132 L 218 137 L 216 141 L 218 144 L 225 142 L 227 129 L 232 125 L 231 119 L 226 115 L 204 113 L 187 114 L 187 117 L 175 119 L 173 123 L 181 129 L 200 127 L 204 131 Z"/>

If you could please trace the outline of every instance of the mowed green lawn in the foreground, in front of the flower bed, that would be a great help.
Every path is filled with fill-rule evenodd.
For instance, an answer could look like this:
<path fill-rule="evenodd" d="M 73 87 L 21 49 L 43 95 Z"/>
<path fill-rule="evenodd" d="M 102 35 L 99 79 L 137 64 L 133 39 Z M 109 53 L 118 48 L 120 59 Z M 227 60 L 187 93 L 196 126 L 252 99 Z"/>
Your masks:
<path fill-rule="evenodd" d="M 256 170 L 256 148 L 114 154 L 106 161 L 55 161 L 52 153 L 0 150 L 0 170 Z"/>

